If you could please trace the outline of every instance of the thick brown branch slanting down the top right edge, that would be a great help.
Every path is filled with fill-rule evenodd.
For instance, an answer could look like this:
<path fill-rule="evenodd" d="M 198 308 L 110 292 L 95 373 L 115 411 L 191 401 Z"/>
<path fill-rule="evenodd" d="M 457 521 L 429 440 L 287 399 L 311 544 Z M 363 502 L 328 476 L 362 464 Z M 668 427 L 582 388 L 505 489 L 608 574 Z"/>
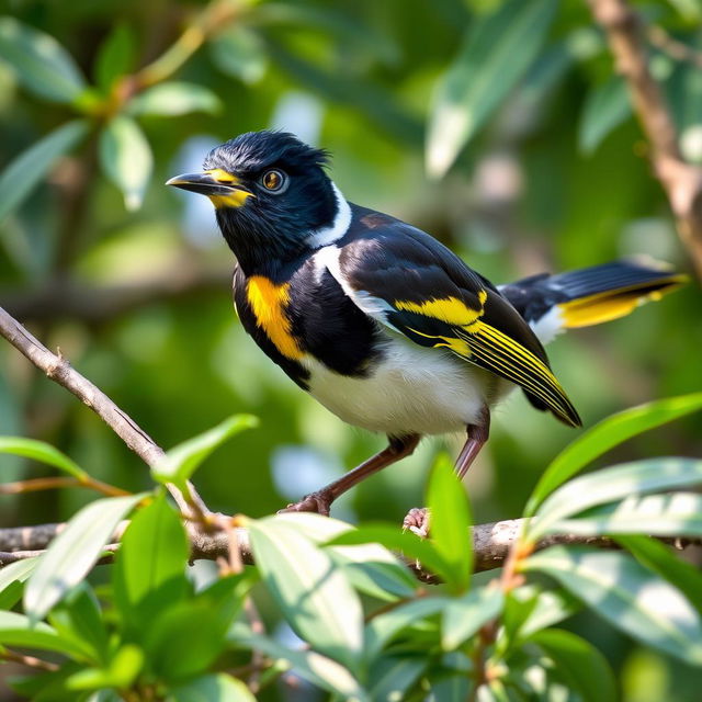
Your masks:
<path fill-rule="evenodd" d="M 676 217 L 678 234 L 702 278 L 702 168 L 687 163 L 660 86 L 647 60 L 639 15 L 626 0 L 588 0 L 596 21 L 607 34 L 616 70 L 629 83 L 652 162 Z"/>

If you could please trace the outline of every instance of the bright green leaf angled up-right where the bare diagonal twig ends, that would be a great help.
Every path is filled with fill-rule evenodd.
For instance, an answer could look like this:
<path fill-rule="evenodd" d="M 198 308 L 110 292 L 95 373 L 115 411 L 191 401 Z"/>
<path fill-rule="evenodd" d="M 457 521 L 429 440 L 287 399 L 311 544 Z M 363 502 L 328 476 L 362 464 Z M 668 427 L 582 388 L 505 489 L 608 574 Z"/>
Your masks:
<path fill-rule="evenodd" d="M 151 475 L 159 483 L 173 483 L 185 490 L 188 479 L 215 449 L 231 437 L 258 424 L 259 420 L 251 415 L 234 415 L 213 429 L 173 446 L 151 468 Z"/>

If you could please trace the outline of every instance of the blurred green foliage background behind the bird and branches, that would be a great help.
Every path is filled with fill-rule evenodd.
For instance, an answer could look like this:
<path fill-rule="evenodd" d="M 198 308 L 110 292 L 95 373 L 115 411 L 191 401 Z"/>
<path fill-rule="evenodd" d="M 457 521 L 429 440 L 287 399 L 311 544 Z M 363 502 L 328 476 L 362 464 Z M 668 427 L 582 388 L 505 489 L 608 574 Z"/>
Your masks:
<path fill-rule="evenodd" d="M 0 212 L 0 305 L 165 448 L 236 411 L 260 416 L 259 429 L 208 461 L 199 489 L 213 509 L 261 516 L 353 466 L 383 438 L 317 406 L 240 328 L 234 260 L 212 207 L 162 185 L 199 169 L 212 146 L 268 127 L 322 145 L 349 200 L 430 231 L 496 283 L 637 253 L 688 270 L 587 4 L 502 4 L 0 2 L 5 203 L 10 193 Z M 659 32 L 652 67 L 683 154 L 701 162 L 702 9 L 695 0 L 636 5 Z M 671 42 L 689 54 L 670 50 Z M 461 107 L 473 123 L 458 134 L 442 114 L 455 80 L 473 86 Z M 700 389 L 701 302 L 692 284 L 550 348 L 586 427 Z M 574 438 L 521 394 L 496 411 L 492 427 L 467 479 L 478 521 L 518 513 Z M 702 455 L 701 429 L 699 418 L 676 422 L 607 463 Z M 127 489 L 148 484 L 139 460 L 95 416 L 7 346 L 0 434 L 49 441 Z M 419 503 L 439 445 L 456 451 L 461 440 L 426 441 L 353 490 L 336 514 L 399 522 Z M 3 480 L 42 475 L 8 456 L 0 468 Z M 59 521 L 88 499 L 78 491 L 2 498 L 0 526 Z M 601 622 L 573 626 L 620 668 L 627 701 L 698 699 L 692 671 L 637 650 Z"/>

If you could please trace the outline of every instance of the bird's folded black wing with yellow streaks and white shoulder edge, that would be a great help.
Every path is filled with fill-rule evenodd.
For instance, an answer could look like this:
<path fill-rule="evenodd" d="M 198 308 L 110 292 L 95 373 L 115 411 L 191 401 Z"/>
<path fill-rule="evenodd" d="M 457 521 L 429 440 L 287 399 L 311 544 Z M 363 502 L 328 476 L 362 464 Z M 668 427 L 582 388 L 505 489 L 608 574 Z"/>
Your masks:
<path fill-rule="evenodd" d="M 537 407 L 580 424 L 529 325 L 491 283 L 429 235 L 375 216 L 372 227 L 356 224 L 322 256 L 366 314 L 420 346 L 450 349 L 516 383 Z"/>

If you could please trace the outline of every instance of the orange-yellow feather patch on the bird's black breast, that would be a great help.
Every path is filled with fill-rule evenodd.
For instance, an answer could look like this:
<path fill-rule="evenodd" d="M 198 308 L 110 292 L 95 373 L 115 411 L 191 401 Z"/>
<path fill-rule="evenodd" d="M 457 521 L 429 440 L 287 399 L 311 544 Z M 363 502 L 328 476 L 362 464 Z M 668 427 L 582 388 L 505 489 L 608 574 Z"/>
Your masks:
<path fill-rule="evenodd" d="M 246 296 L 258 326 L 275 348 L 293 361 L 302 359 L 304 352 L 292 335 L 291 321 L 285 314 L 285 306 L 290 303 L 290 283 L 275 285 L 268 278 L 252 275 L 247 283 Z"/>

